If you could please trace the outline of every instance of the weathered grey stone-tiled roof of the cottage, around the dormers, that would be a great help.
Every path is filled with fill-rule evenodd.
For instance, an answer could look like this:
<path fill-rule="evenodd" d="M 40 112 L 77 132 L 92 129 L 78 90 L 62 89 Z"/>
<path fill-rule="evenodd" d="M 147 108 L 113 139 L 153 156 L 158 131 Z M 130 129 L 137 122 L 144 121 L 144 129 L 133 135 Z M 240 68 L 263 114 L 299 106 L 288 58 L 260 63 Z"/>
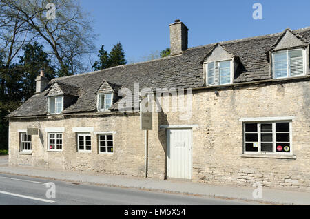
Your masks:
<path fill-rule="evenodd" d="M 310 42 L 310 27 L 293 32 L 298 34 L 304 42 Z M 282 35 L 283 32 L 220 42 L 220 45 L 223 45 L 227 52 L 234 54 L 240 60 L 234 83 L 270 79 L 267 54 Z M 105 80 L 131 90 L 133 90 L 134 83 L 139 83 L 140 89 L 143 87 L 203 87 L 203 65 L 201 61 L 215 45 L 216 43 L 189 48 L 179 56 L 53 79 L 50 84 L 57 82 L 79 87 L 79 98 L 74 105 L 65 109 L 65 113 L 96 111 L 96 90 L 101 87 Z M 46 92 L 43 92 L 43 94 L 32 96 L 7 117 L 46 114 L 45 94 Z"/>

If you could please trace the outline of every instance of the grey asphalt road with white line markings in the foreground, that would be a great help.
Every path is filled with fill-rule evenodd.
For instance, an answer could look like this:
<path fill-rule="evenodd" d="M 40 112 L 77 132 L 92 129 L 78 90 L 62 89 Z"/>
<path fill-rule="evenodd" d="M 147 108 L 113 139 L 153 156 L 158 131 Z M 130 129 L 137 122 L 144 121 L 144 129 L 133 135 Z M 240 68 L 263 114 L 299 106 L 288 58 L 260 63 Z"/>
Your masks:
<path fill-rule="evenodd" d="M 47 198 L 46 183 L 56 198 Z M 50 193 L 51 194 L 51 193 Z M 248 202 L 0 174 L 0 205 L 248 205 Z"/>

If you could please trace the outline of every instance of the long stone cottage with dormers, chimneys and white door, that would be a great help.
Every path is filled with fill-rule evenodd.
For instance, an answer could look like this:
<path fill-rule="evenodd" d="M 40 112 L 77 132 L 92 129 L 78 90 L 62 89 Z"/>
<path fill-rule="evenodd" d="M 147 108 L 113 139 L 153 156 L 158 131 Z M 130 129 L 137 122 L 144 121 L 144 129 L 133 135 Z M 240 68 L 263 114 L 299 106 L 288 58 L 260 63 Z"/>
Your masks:
<path fill-rule="evenodd" d="M 181 21 L 169 28 L 169 57 L 52 81 L 42 72 L 6 117 L 9 165 L 309 190 L 310 27 L 195 48 Z M 147 153 L 134 83 L 192 100 L 187 119 L 173 105 L 152 113 Z"/>

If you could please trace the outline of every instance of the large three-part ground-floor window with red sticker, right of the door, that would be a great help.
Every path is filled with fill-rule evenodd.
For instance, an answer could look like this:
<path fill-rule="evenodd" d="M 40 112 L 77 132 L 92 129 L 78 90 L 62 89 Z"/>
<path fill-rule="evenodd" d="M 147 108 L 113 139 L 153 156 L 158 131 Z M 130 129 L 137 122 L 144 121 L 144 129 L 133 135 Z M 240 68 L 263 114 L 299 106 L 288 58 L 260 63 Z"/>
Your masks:
<path fill-rule="evenodd" d="M 246 154 L 291 154 L 291 122 L 244 123 Z"/>

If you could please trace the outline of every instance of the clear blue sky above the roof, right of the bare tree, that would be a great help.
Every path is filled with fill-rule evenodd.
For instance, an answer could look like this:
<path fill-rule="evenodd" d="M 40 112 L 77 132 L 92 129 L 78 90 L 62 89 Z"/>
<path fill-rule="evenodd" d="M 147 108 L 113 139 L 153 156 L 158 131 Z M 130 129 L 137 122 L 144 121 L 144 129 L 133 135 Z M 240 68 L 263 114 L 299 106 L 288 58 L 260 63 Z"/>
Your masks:
<path fill-rule="evenodd" d="M 262 20 L 252 18 L 256 2 L 262 4 Z M 189 28 L 189 47 L 310 25 L 309 0 L 81 0 L 81 6 L 94 20 L 97 50 L 104 44 L 110 52 L 120 41 L 129 62 L 169 48 L 175 19 Z"/>

